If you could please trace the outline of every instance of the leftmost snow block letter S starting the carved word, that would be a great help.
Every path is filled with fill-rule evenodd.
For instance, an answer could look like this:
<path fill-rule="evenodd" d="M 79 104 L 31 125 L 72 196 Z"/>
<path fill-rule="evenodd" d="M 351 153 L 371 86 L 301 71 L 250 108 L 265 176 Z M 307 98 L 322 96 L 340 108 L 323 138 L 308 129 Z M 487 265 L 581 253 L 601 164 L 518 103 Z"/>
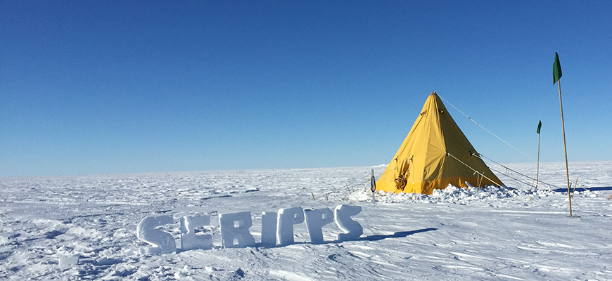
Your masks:
<path fill-rule="evenodd" d="M 136 237 L 151 244 L 153 247 L 143 247 L 141 254 L 170 254 L 177 251 L 177 242 L 170 233 L 156 230 L 155 226 L 172 223 L 172 216 L 147 216 L 136 226 Z"/>

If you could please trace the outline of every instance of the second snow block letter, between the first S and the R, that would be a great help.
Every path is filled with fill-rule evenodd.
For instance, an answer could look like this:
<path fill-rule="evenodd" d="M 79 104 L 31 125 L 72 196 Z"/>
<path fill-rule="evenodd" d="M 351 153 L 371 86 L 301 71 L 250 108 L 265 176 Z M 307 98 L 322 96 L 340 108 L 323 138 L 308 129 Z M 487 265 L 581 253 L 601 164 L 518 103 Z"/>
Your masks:
<path fill-rule="evenodd" d="M 184 216 L 181 218 L 181 251 L 212 249 L 212 235 L 196 235 L 196 228 L 209 226 L 210 216 Z"/>

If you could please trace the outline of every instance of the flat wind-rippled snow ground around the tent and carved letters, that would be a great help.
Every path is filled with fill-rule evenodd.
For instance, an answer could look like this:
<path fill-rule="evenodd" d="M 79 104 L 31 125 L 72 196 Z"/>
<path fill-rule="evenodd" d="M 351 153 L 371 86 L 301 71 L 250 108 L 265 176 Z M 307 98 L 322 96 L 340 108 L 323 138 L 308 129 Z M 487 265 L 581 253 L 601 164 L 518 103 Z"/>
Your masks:
<path fill-rule="evenodd" d="M 535 177 L 535 164 L 505 166 Z M 570 162 L 575 217 L 563 163 L 540 164 L 556 187 L 498 173 L 511 189 L 378 193 L 372 203 L 369 174 L 384 168 L 0 178 L 0 279 L 612 280 L 612 162 Z M 259 242 L 262 211 L 338 204 L 362 207 L 359 240 L 334 242 L 331 223 L 312 244 L 302 223 L 295 244 L 220 247 L 218 214 L 250 211 Z M 174 216 L 162 230 L 177 246 L 181 216 L 210 215 L 214 249 L 140 255 L 136 226 L 162 214 Z"/>

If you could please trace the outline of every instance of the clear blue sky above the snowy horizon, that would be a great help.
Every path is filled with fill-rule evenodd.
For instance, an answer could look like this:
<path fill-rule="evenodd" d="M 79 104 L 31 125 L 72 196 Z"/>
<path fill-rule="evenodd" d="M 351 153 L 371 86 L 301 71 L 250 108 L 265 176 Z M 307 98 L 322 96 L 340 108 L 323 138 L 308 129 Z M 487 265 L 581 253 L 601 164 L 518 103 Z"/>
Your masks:
<path fill-rule="evenodd" d="M 387 164 L 431 91 L 563 161 L 555 52 L 569 160 L 612 160 L 611 1 L 378 2 L 1 1 L 0 176 Z"/>

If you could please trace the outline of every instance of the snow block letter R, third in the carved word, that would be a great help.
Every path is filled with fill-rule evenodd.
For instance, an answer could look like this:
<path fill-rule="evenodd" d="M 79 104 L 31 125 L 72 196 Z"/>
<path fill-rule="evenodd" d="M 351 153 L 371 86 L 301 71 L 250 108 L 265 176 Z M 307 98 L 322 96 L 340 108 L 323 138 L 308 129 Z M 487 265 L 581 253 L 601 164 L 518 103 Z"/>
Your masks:
<path fill-rule="evenodd" d="M 255 246 L 255 237 L 248 232 L 253 226 L 250 211 L 220 214 L 221 242 L 224 248 L 245 248 Z M 236 240 L 236 244 L 234 244 Z"/>

